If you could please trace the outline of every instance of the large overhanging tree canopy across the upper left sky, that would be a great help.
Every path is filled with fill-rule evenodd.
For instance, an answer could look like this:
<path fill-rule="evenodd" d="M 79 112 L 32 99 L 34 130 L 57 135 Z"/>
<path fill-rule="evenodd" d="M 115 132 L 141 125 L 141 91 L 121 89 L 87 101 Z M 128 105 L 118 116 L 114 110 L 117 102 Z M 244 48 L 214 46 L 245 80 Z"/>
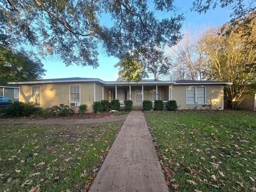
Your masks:
<path fill-rule="evenodd" d="M 159 20 L 154 11 L 174 12 L 174 0 L 0 0 L 0 46 L 36 46 L 66 65 L 98 64 L 98 44 L 122 58 L 140 46 L 176 44 L 184 17 Z M 100 18 L 110 16 L 112 26 Z"/>

